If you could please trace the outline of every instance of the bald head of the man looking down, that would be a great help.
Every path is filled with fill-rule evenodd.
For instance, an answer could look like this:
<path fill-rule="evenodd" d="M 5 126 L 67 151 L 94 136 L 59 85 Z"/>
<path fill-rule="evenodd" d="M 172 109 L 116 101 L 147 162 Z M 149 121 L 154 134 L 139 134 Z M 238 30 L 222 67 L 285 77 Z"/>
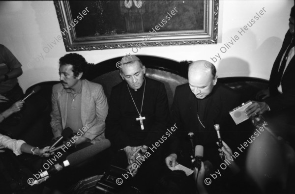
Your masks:
<path fill-rule="evenodd" d="M 217 82 L 216 69 L 206 60 L 194 61 L 188 68 L 188 83 L 198 99 L 209 95 Z"/>

